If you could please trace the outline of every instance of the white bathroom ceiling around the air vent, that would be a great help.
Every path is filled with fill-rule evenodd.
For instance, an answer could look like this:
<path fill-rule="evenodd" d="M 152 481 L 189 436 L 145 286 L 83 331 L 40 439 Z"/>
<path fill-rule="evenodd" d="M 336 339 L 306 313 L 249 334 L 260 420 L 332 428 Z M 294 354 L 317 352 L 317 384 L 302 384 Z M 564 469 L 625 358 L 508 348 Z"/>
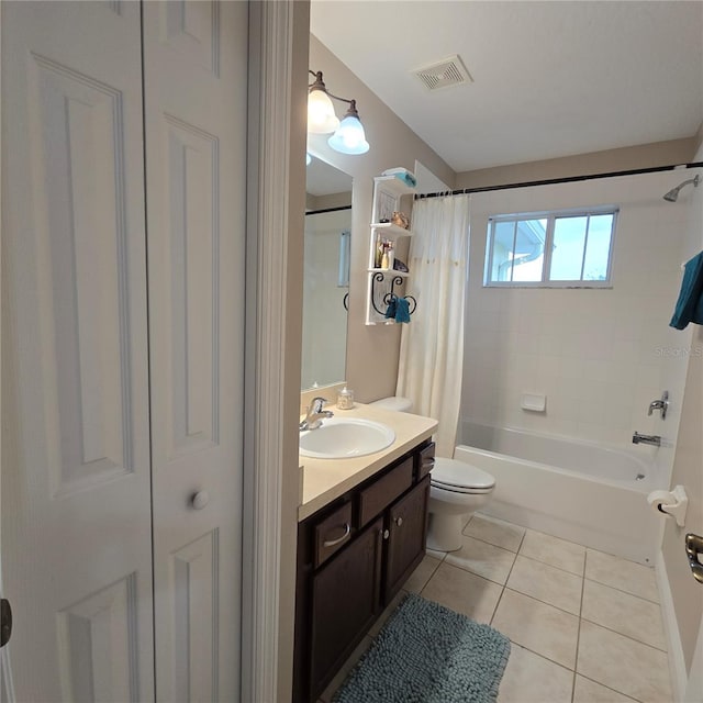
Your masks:
<path fill-rule="evenodd" d="M 457 172 L 703 121 L 701 0 L 312 0 L 311 32 Z M 428 91 L 412 74 L 454 54 L 473 83 Z"/>

